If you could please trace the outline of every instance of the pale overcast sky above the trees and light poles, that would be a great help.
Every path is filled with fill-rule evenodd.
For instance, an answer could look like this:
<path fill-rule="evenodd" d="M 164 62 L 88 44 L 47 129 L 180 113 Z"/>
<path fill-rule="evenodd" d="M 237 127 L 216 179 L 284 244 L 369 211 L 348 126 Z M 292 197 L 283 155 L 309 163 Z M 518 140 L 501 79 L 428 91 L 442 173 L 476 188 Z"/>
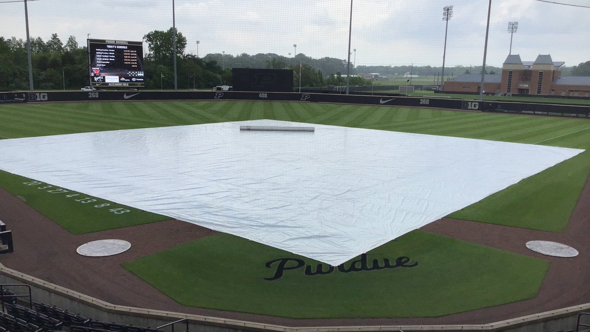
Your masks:
<path fill-rule="evenodd" d="M 0 35 L 26 38 L 23 2 L 0 0 Z M 553 0 L 552 0 L 553 1 Z M 2 3 L 4 2 L 4 3 Z M 555 0 L 590 6 L 590 0 Z M 481 65 L 487 0 L 354 0 L 350 60 L 356 66 L 441 66 L 448 21 L 445 66 Z M 208 53 L 297 53 L 345 59 L 350 0 L 175 0 L 176 27 L 186 51 Z M 28 2 L 31 37 L 57 33 L 65 43 L 90 38 L 142 40 L 172 27 L 172 0 L 37 0 Z M 518 21 L 512 53 L 523 61 L 550 54 L 575 66 L 590 60 L 590 8 L 538 0 L 493 0 L 487 64 L 501 66 L 509 54 L 509 21 Z M 147 49 L 147 47 L 146 47 Z"/>

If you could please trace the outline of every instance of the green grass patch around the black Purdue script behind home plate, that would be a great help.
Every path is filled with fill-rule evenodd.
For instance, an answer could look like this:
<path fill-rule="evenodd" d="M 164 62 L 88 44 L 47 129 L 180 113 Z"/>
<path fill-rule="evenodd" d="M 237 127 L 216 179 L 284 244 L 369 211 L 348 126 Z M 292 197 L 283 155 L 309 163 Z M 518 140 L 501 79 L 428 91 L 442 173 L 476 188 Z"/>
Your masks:
<path fill-rule="evenodd" d="M 123 266 L 182 305 L 293 318 L 436 317 L 490 307 L 535 297 L 549 268 L 547 261 L 421 231 L 371 250 L 366 266 L 373 259 L 383 266 L 384 258 L 394 265 L 400 256 L 409 259 L 403 265 L 417 265 L 311 276 L 302 266 L 268 281 L 280 262 L 267 262 L 297 258 L 312 265 L 310 272 L 319 262 L 218 234 Z"/>

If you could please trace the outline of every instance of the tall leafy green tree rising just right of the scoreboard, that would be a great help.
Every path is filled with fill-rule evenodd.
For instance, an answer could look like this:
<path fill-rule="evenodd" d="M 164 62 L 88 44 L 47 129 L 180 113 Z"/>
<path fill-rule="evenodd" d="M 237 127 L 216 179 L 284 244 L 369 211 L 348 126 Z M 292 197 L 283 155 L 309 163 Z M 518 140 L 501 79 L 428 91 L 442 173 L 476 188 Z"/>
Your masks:
<path fill-rule="evenodd" d="M 158 63 L 171 63 L 173 56 L 173 29 L 154 30 L 143 36 L 148 42 L 148 57 Z M 186 37 L 176 29 L 176 54 L 182 56 L 186 48 Z"/>

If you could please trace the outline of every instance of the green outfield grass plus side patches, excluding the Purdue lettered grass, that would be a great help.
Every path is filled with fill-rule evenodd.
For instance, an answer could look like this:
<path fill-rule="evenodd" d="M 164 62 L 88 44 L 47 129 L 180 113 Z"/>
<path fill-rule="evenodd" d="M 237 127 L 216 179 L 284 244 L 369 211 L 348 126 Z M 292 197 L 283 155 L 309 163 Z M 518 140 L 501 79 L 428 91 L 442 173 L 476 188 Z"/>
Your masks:
<path fill-rule="evenodd" d="M 0 136 L 18 138 L 250 119 L 277 119 L 590 148 L 590 122 L 584 119 L 297 102 L 86 102 L 2 105 Z M 585 152 L 451 216 L 559 232 L 568 222 L 589 171 L 590 156 Z M 1 187 L 15 196 L 23 197 L 32 207 L 73 233 L 165 219 L 157 215 L 142 214 L 136 217 L 135 214 L 123 213 L 117 215 L 113 222 L 106 222 L 106 219 L 101 217 L 104 214 L 98 214 L 103 213 L 103 207 L 88 208 L 91 206 L 89 204 L 98 202 L 73 203 L 72 201 L 84 197 L 70 197 L 72 199 L 66 201 L 65 198 L 68 197 L 64 196 L 67 193 L 47 193 L 47 190 L 52 188 L 42 188 L 51 184 L 37 187 L 23 184 L 25 182 L 30 181 L 0 173 Z M 112 202 L 101 204 L 105 203 Z M 64 222 L 64 214 L 68 213 L 73 217 L 71 221 Z"/>

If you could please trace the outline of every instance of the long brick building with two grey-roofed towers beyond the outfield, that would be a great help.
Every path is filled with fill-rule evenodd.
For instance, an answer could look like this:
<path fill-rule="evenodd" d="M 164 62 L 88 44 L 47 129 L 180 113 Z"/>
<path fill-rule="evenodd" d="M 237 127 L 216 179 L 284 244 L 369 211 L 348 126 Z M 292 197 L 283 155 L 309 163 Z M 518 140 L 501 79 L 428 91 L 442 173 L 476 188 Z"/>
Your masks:
<path fill-rule="evenodd" d="M 535 61 L 522 61 L 510 54 L 501 74 L 486 74 L 484 92 L 513 95 L 551 95 L 590 97 L 590 77 L 561 76 L 562 61 L 539 54 Z M 448 92 L 480 92 L 481 74 L 463 74 L 444 83 Z"/>

